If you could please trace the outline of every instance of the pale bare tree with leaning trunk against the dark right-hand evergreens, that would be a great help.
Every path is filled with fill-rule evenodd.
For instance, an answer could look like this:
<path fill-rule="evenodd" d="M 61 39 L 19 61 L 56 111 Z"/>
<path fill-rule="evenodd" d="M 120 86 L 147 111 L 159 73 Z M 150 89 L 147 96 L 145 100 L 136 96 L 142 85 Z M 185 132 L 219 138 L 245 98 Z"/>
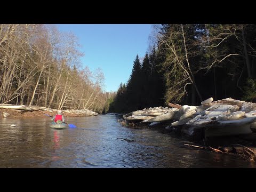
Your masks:
<path fill-rule="evenodd" d="M 167 100 L 179 101 L 187 93 L 186 86 L 191 84 L 202 101 L 195 82 L 196 71 L 193 71 L 189 61 L 196 54 L 196 51 L 191 48 L 193 45 L 187 44 L 189 38 L 183 30 L 183 25 L 172 25 L 167 33 L 158 36 L 159 47 L 161 47 L 159 51 L 164 51 L 168 55 L 164 63 L 167 69 L 166 83 L 170 86 L 167 90 Z"/>

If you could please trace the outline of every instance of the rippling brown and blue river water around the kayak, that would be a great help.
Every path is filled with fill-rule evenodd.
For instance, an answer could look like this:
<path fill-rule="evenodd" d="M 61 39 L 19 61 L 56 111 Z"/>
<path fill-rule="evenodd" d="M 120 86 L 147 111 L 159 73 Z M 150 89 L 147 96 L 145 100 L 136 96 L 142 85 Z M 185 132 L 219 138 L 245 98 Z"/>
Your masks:
<path fill-rule="evenodd" d="M 66 117 L 77 127 L 63 130 L 50 122 L 1 118 L 0 167 L 256 167 L 236 155 L 183 148 L 165 131 L 123 127 L 118 116 Z"/>

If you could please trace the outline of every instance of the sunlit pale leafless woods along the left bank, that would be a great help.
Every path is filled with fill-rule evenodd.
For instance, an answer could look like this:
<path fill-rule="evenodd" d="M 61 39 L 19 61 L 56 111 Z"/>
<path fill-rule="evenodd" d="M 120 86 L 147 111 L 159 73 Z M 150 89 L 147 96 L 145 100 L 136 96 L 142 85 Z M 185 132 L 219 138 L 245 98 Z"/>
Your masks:
<path fill-rule="evenodd" d="M 54 25 L 0 25 L 0 103 L 108 110 L 101 69 L 82 67 L 78 39 Z"/>

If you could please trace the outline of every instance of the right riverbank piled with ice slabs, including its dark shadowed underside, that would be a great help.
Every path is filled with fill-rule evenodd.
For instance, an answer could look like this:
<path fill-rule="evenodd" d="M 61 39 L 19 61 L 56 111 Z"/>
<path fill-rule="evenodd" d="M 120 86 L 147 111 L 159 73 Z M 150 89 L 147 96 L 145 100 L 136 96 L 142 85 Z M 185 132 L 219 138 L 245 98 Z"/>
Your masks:
<path fill-rule="evenodd" d="M 123 115 L 119 122 L 134 129 L 165 130 L 185 140 L 184 147 L 239 154 L 256 161 L 256 103 L 232 98 L 201 106 L 145 108 Z"/>

